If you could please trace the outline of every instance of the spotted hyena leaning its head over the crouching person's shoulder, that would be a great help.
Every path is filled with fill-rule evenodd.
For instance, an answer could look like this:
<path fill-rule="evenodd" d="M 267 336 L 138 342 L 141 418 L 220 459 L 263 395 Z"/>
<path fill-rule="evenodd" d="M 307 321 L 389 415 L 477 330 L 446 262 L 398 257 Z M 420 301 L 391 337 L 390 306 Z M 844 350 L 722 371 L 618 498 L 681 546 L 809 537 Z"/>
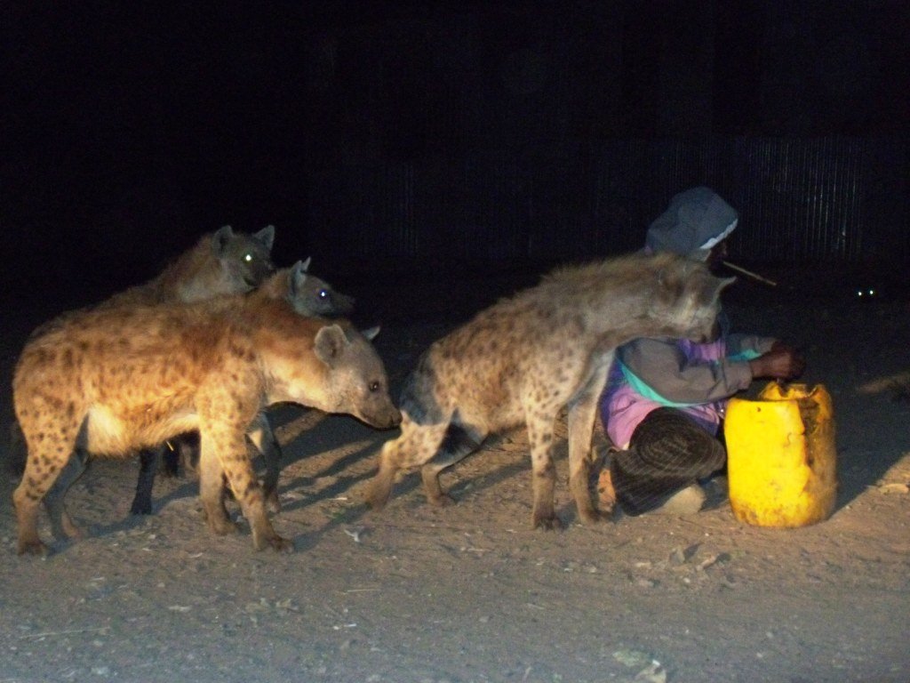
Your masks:
<path fill-rule="evenodd" d="M 553 424 L 568 409 L 570 488 L 585 522 L 600 515 L 588 492 L 588 456 L 598 396 L 613 350 L 642 336 L 713 334 L 719 294 L 733 280 L 703 263 L 636 254 L 556 270 L 529 290 L 481 311 L 433 343 L 401 395 L 401 435 L 379 454 L 367 502 L 389 499 L 399 470 L 418 466 L 430 503 L 450 498 L 441 470 L 491 432 L 527 424 L 533 526 L 560 525 L 553 508 Z"/>

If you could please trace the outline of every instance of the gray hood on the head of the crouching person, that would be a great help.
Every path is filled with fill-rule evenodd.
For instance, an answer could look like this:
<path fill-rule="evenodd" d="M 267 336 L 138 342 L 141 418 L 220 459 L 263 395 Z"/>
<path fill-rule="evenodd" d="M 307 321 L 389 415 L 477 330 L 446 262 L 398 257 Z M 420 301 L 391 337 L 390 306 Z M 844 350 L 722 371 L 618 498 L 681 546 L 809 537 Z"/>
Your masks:
<path fill-rule="evenodd" d="M 670 207 L 648 228 L 644 249 L 672 251 L 705 260 L 708 252 L 733 229 L 739 214 L 710 188 L 693 188 L 670 200 Z"/>

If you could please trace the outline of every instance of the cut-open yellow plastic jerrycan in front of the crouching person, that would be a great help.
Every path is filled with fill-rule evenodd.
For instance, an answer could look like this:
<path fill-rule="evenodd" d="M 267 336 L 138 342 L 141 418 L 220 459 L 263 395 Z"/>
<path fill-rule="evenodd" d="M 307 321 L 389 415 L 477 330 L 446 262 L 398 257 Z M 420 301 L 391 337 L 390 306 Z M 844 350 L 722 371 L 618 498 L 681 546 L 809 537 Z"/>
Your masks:
<path fill-rule="evenodd" d="M 757 401 L 733 398 L 723 435 L 730 505 L 741 522 L 804 526 L 834 512 L 834 407 L 819 384 L 769 383 Z"/>

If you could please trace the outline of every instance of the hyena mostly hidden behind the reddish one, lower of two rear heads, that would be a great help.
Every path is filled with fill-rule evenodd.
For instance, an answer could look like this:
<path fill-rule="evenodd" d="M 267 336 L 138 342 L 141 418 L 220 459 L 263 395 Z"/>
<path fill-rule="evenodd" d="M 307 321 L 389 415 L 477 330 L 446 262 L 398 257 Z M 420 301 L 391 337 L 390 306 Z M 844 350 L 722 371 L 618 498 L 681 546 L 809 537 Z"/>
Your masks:
<path fill-rule="evenodd" d="M 291 308 L 299 315 L 310 317 L 335 318 L 351 312 L 354 308 L 354 300 L 335 291 L 325 280 L 310 274 L 308 272 L 309 263 L 310 259 L 298 261 L 288 269 L 276 271 L 248 296 L 254 300 L 261 298 L 288 301 Z M 231 299 L 213 300 L 211 305 L 231 306 L 232 301 Z M 268 506 L 273 512 L 278 512 L 280 504 L 277 487 L 281 447 L 265 413 L 258 416 L 255 425 L 250 430 L 249 437 L 265 459 L 266 477 L 263 481 L 263 490 Z M 177 462 L 179 461 L 183 461 L 189 469 L 196 469 L 197 434 L 185 434 L 181 438 L 167 443 L 165 448 L 147 449 L 139 454 L 139 479 L 136 483 L 136 495 L 130 506 L 130 513 L 133 515 L 151 515 L 152 513 L 152 486 L 155 483 L 162 455 L 164 455 L 166 471 L 169 474 L 177 472 Z M 65 481 L 57 484 L 57 487 L 68 488 L 72 480 L 81 474 L 84 467 L 84 463 L 68 467 L 65 475 L 61 477 Z"/>

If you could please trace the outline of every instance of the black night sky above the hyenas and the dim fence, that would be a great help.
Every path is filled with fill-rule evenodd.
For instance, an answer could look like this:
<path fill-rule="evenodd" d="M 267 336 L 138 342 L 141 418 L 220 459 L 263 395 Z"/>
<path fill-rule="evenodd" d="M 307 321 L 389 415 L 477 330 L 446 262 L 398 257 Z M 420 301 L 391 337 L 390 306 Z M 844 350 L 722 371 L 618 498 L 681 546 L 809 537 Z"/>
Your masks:
<path fill-rule="evenodd" d="M 142 280 L 225 223 L 294 226 L 284 244 L 305 253 L 309 178 L 343 164 L 905 136 L 908 7 L 6 3 L 5 281 Z"/>

